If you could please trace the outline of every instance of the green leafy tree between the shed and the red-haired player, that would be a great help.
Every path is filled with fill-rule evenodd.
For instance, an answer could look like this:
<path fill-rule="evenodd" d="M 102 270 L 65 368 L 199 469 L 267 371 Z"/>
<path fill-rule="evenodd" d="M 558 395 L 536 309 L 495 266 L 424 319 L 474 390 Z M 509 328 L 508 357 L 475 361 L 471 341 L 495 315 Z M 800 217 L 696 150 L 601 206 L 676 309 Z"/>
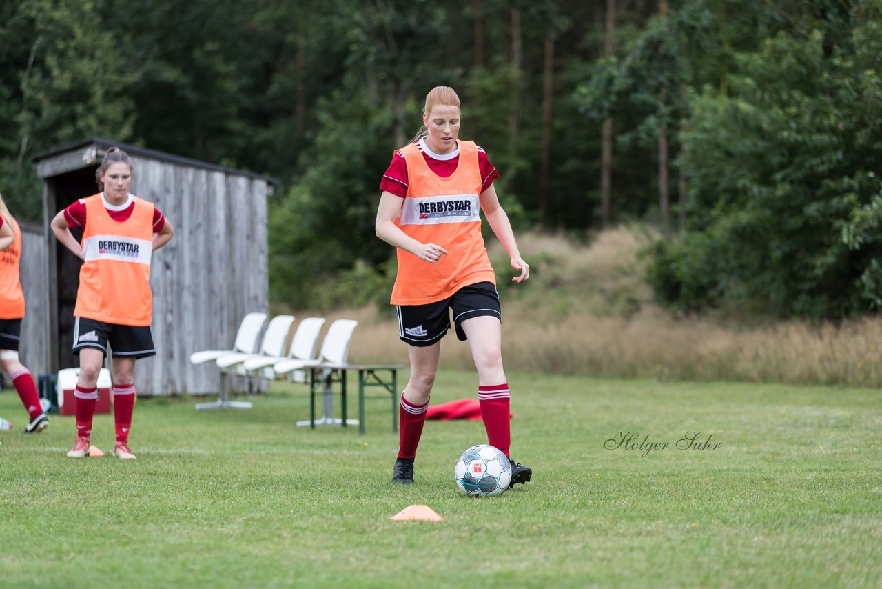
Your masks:
<path fill-rule="evenodd" d="M 271 297 L 294 308 L 330 305 L 338 297 L 325 286 L 340 272 L 355 267 L 353 276 L 359 276 L 357 264 L 373 267 L 391 251 L 374 235 L 382 171 L 365 172 L 388 166 L 392 150 L 382 138 L 391 128 L 390 113 L 368 108 L 364 94 L 340 92 L 324 102 L 319 118 L 321 132 L 303 180 L 270 202 Z M 353 132 L 355 120 L 359 132 Z"/>

